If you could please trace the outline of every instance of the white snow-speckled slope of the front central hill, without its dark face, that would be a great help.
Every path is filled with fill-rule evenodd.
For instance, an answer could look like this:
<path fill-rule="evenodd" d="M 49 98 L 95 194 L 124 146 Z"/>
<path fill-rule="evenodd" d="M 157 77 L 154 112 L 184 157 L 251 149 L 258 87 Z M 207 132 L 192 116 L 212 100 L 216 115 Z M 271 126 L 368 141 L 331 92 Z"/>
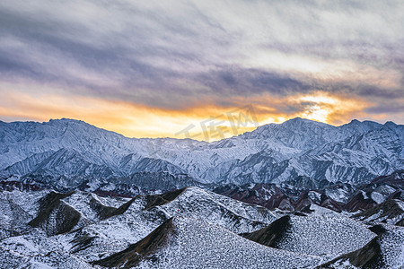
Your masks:
<path fill-rule="evenodd" d="M 173 219 L 168 246 L 138 268 L 303 268 L 321 263 L 317 256 L 265 247 L 206 221 Z"/>

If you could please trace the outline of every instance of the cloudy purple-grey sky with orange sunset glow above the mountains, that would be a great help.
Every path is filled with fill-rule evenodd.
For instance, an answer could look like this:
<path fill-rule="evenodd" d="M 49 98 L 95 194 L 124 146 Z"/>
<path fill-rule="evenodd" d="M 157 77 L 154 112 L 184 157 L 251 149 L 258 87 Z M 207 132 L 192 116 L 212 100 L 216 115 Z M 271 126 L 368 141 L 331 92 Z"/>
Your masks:
<path fill-rule="evenodd" d="M 0 97 L 129 137 L 404 124 L 404 2 L 3 0 Z"/>

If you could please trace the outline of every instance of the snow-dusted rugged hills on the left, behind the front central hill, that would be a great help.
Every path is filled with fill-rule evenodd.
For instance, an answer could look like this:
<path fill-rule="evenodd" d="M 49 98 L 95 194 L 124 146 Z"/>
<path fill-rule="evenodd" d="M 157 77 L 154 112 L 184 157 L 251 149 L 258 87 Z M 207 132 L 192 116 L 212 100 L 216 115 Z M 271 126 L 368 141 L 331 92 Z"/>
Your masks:
<path fill-rule="evenodd" d="M 88 262 L 125 250 L 176 217 L 204 220 L 234 237 L 277 219 L 263 207 L 198 187 L 131 199 L 13 190 L 0 191 L 0 201 L 0 268 L 91 267 Z"/>

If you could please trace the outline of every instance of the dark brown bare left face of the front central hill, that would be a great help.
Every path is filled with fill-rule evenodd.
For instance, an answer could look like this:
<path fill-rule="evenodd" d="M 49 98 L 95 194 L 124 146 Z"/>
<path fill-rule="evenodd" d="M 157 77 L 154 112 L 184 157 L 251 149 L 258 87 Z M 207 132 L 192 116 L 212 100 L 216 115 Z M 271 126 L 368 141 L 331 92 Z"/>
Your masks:
<path fill-rule="evenodd" d="M 144 259 L 153 259 L 153 253 L 158 248 L 165 246 L 174 232 L 172 218 L 152 231 L 145 239 L 140 240 L 127 249 L 113 254 L 104 259 L 93 262 L 93 265 L 104 267 L 131 268 Z"/>

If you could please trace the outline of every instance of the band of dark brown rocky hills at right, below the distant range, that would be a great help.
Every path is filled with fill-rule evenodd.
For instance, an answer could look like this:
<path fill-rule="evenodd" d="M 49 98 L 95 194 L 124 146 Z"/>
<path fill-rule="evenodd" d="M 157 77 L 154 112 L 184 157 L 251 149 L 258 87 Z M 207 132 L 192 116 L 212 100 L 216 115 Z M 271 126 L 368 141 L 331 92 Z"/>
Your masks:
<path fill-rule="evenodd" d="M 225 185 L 215 187 L 214 192 L 245 203 L 259 204 L 269 210 L 302 211 L 311 204 L 317 204 L 338 213 L 342 211 L 353 213 L 369 210 L 377 204 L 392 199 L 403 201 L 404 185 L 400 183 L 401 177 L 402 172 L 399 170 L 390 176 L 380 177 L 373 180 L 373 183 L 364 185 L 329 183 L 326 180 L 320 185 L 315 185 L 309 178 L 298 177 L 280 186 L 264 183 Z M 390 185 L 389 182 L 392 182 L 392 179 L 384 180 L 386 178 L 395 178 L 395 184 Z M 297 186 L 294 187 L 291 183 L 296 183 Z M 303 187 L 317 188 L 304 189 Z"/>

